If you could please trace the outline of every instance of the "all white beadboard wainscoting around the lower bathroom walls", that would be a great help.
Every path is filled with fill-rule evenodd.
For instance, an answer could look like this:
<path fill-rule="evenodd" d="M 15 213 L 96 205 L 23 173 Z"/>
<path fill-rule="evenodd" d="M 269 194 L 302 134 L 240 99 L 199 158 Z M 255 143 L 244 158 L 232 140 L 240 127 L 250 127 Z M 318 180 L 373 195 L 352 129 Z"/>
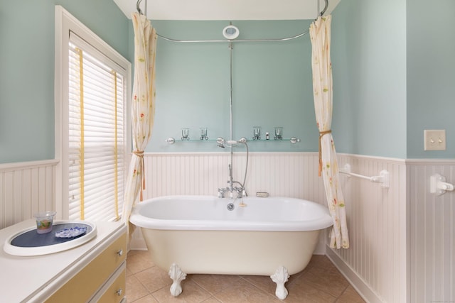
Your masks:
<path fill-rule="evenodd" d="M 234 179 L 242 182 L 245 153 L 235 153 L 232 161 Z M 56 209 L 57 162 L 0 164 L 0 228 Z M 326 253 L 368 302 L 455 302 L 455 192 L 429 192 L 436 172 L 455 184 L 455 160 L 338 154 L 338 162 L 366 176 L 387 170 L 390 187 L 341 174 L 350 248 L 328 248 L 322 235 L 318 253 Z M 216 195 L 228 186 L 229 163 L 230 153 L 146 154 L 144 198 Z M 269 192 L 326 205 L 317 153 L 251 153 L 248 167 L 251 196 Z M 132 248 L 145 248 L 140 233 Z"/>

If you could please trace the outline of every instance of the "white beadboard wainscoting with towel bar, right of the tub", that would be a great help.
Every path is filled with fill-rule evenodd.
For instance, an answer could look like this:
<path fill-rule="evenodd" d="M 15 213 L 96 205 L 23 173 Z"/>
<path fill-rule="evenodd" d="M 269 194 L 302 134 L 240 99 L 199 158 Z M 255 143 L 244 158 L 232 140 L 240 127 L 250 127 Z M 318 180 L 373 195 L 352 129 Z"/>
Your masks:
<path fill-rule="evenodd" d="M 350 248 L 328 248 L 328 256 L 368 302 L 406 302 L 405 161 L 338 155 L 338 162 L 368 177 L 387 170 L 390 187 L 341 174 Z"/>

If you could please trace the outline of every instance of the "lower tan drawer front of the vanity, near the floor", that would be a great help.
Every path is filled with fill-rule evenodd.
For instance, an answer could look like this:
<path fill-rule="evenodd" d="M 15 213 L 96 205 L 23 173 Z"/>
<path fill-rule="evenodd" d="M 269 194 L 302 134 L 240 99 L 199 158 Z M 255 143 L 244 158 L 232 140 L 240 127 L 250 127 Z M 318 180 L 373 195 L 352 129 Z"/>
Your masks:
<path fill-rule="evenodd" d="M 117 272 L 107 281 L 100 292 L 93 297 L 90 302 L 93 303 L 119 303 L 126 296 L 127 287 L 127 265 L 124 262 Z"/>

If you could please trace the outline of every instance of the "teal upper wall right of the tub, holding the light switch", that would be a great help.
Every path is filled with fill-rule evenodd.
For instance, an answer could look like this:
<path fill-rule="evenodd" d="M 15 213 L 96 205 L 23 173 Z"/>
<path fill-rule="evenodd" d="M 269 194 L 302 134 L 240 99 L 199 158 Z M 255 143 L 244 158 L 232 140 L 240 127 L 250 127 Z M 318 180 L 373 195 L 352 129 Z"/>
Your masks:
<path fill-rule="evenodd" d="M 333 136 L 338 152 L 455 155 L 455 2 L 343 0 L 333 12 Z M 425 151 L 424 129 L 446 129 Z"/>

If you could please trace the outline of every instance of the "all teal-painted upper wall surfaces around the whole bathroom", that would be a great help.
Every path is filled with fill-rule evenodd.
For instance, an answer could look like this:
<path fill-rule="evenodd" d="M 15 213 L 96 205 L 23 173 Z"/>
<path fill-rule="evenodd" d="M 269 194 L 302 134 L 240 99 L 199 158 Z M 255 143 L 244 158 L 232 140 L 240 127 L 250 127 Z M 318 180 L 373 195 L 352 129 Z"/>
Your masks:
<path fill-rule="evenodd" d="M 131 21 L 111 0 L 0 2 L 0 163 L 54 158 L 54 6 L 61 4 L 132 60 Z M 17 16 L 21 16 L 17 18 Z M 103 16 L 103 18 L 100 18 Z M 427 17 L 425 17 L 427 16 Z M 343 0 L 333 12 L 333 136 L 338 152 L 392 158 L 455 154 L 455 2 Z M 227 21 L 153 21 L 161 35 L 223 39 Z M 236 21 L 239 38 L 274 38 L 306 31 L 309 21 Z M 251 143 L 257 151 L 316 151 L 311 94 L 311 45 L 235 43 L 234 138 L 252 126 L 301 142 Z M 229 50 L 226 43 L 158 41 L 156 123 L 147 151 L 220 151 L 229 137 Z M 446 129 L 446 151 L 424 151 L 424 129 Z M 263 135 L 264 136 L 264 135 Z M 272 135 L 273 136 L 273 135 Z"/>

